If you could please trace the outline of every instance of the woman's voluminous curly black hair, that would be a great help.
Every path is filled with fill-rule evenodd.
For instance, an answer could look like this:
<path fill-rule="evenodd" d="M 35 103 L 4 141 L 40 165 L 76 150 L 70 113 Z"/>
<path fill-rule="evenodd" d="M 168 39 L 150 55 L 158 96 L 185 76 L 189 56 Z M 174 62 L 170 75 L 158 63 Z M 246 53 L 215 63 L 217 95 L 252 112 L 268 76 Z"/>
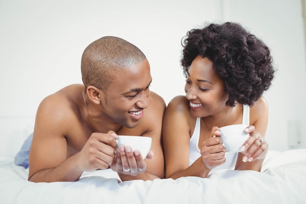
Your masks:
<path fill-rule="evenodd" d="M 202 29 L 192 29 L 182 45 L 184 75 L 187 76 L 197 55 L 207 57 L 224 82 L 229 95 L 227 106 L 254 105 L 274 78 L 269 48 L 238 23 L 211 23 Z"/>

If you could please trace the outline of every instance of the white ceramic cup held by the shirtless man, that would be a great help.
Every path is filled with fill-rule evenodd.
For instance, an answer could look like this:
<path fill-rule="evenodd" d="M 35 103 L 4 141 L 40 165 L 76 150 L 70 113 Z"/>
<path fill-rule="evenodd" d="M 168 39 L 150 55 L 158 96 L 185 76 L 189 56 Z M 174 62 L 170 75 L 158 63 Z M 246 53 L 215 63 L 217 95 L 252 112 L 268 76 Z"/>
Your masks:
<path fill-rule="evenodd" d="M 117 146 L 123 144 L 130 146 L 132 151 L 138 150 L 143 159 L 145 159 L 150 151 L 152 138 L 147 136 L 118 136 L 116 139 Z"/>

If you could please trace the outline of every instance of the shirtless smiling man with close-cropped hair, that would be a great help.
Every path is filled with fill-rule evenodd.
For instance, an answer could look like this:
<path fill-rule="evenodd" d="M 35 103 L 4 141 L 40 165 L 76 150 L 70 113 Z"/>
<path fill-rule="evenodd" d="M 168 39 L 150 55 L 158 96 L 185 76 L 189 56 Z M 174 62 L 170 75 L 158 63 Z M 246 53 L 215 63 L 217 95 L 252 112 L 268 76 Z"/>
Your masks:
<path fill-rule="evenodd" d="M 85 49 L 81 71 L 84 85 L 67 86 L 38 108 L 28 180 L 77 181 L 84 171 L 109 167 L 122 181 L 163 178 L 166 105 L 149 91 L 150 65 L 142 51 L 103 37 Z M 117 148 L 117 135 L 149 136 L 152 151 L 144 160 L 131 147 Z"/>

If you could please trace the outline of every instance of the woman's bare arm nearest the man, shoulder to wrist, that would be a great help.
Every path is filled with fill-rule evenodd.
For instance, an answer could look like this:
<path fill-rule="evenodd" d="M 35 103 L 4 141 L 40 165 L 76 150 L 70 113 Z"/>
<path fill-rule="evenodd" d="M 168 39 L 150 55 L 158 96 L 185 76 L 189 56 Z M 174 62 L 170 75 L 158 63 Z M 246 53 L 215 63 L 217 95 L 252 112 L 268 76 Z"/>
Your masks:
<path fill-rule="evenodd" d="M 165 178 L 206 177 L 210 171 L 201 157 L 189 166 L 191 120 L 189 103 L 185 96 L 176 96 L 170 101 L 163 120 Z"/>

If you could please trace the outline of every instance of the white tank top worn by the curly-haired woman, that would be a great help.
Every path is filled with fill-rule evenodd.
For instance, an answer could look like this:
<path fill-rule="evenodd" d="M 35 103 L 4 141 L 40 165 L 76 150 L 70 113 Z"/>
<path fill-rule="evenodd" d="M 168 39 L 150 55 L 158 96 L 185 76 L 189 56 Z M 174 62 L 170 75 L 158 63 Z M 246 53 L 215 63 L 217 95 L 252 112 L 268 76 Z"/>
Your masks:
<path fill-rule="evenodd" d="M 242 124 L 250 125 L 250 107 L 248 105 L 243 105 L 242 112 Z M 198 141 L 200 137 L 200 125 L 201 118 L 197 117 L 196 126 L 193 135 L 190 138 L 189 145 L 189 165 L 193 164 L 200 156 L 200 150 L 198 148 Z M 225 163 L 219 165 L 218 167 L 212 169 L 210 172 L 219 170 L 219 169 L 234 169 L 238 152 L 230 152 L 225 155 Z"/>

